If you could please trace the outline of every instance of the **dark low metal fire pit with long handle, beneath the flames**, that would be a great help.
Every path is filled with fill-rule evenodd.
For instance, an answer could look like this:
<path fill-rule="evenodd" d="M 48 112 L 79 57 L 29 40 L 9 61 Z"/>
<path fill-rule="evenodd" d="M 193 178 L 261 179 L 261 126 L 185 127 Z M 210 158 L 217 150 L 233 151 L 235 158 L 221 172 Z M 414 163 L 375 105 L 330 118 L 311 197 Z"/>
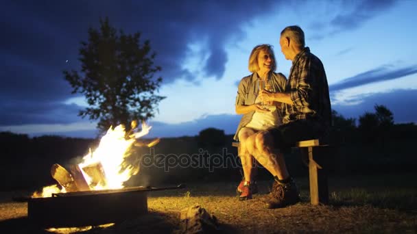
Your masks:
<path fill-rule="evenodd" d="M 53 194 L 47 198 L 21 198 L 27 201 L 27 217 L 42 227 L 95 226 L 120 222 L 147 213 L 147 193 L 175 187 L 126 187 Z"/>

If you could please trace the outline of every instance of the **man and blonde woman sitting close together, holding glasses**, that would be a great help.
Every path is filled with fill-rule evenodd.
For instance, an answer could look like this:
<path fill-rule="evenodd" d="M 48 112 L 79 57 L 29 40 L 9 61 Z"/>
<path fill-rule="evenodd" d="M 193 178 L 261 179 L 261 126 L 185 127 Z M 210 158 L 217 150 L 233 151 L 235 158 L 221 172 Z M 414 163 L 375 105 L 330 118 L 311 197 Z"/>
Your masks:
<path fill-rule="evenodd" d="M 269 44 L 254 47 L 249 57 L 252 75 L 243 77 L 236 97 L 236 113 L 243 114 L 235 140 L 243 180 L 237 187 L 240 200 L 256 191 L 253 160 L 274 177 L 268 208 L 298 203 L 298 188 L 287 171 L 283 153 L 298 141 L 322 138 L 329 133 L 331 104 L 322 62 L 305 47 L 304 32 L 298 26 L 283 29 L 279 40 L 285 59 L 292 61 L 288 79 L 275 73 L 276 60 Z"/>

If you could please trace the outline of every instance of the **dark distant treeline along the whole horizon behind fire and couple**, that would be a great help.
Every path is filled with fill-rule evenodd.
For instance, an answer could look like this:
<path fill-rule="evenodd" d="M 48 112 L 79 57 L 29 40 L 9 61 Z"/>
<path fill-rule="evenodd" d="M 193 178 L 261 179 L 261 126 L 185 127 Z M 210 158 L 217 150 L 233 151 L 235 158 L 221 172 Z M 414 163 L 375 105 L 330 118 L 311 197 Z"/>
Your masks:
<path fill-rule="evenodd" d="M 359 120 L 344 118 L 333 111 L 329 155 L 333 174 L 376 174 L 414 171 L 417 125 L 394 124 L 392 113 L 376 105 L 375 113 Z M 0 190 L 37 189 L 55 183 L 52 164 L 78 164 L 99 140 L 46 135 L 0 133 Z M 139 174 L 127 185 L 187 183 L 190 181 L 239 181 L 240 160 L 231 144 L 233 135 L 208 128 L 193 137 L 163 138 L 152 148 L 132 148 L 133 163 L 141 163 Z M 297 151 L 285 155 L 291 174 L 307 175 Z M 259 179 L 270 179 L 261 168 Z"/>

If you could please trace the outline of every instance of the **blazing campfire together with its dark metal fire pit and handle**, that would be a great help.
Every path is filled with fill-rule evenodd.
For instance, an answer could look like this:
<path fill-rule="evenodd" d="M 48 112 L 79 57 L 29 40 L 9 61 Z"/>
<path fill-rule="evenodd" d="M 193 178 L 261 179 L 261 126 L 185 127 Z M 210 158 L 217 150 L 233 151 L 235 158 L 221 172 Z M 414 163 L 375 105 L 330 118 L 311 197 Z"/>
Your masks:
<path fill-rule="evenodd" d="M 91 226 L 119 222 L 147 213 L 147 192 L 180 189 L 174 187 L 124 187 L 123 183 L 139 172 L 139 161 L 129 159 L 133 146 L 152 147 L 159 139 L 139 140 L 149 133 L 145 123 L 141 131 L 132 123 L 126 134 L 122 125 L 108 129 L 99 146 L 68 166 L 54 164 L 51 175 L 58 182 L 35 192 L 27 201 L 27 216 L 36 226 Z M 127 136 L 126 136 L 127 135 Z"/>

